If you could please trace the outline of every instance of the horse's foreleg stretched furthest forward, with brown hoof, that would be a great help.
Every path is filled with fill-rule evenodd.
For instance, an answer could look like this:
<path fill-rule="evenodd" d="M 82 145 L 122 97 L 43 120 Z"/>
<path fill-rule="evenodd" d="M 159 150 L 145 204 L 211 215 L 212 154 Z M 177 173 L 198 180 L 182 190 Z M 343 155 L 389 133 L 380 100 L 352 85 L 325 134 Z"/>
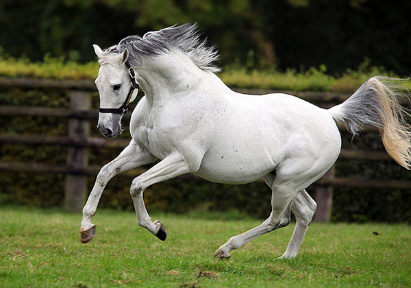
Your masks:
<path fill-rule="evenodd" d="M 95 185 L 92 187 L 92 191 L 83 208 L 82 226 L 80 228 L 82 243 L 87 243 L 95 235 L 95 225 L 91 223 L 91 219 L 97 211 L 101 194 L 108 181 L 118 173 L 151 163 L 155 159 L 155 156 L 151 155 L 145 147 L 138 145 L 132 140 L 117 158 L 101 168 L 97 175 Z"/>

